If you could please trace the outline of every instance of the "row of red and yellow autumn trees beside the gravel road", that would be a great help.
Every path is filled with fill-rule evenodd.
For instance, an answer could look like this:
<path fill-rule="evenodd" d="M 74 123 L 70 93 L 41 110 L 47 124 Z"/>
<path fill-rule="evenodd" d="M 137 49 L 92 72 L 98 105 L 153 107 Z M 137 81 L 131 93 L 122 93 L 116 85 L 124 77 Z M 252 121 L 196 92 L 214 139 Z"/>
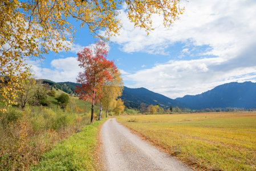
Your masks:
<path fill-rule="evenodd" d="M 119 114 L 124 111 L 123 101 L 117 99 L 123 92 L 123 79 L 121 73 L 117 70 L 113 61 L 107 60 L 108 46 L 102 41 L 84 47 L 78 53 L 79 67 L 83 72 L 79 72 L 76 86 L 76 93 L 79 99 L 90 101 L 92 104 L 91 122 L 94 119 L 94 105 L 100 105 L 99 120 L 101 112 L 114 108 L 115 113 Z"/>

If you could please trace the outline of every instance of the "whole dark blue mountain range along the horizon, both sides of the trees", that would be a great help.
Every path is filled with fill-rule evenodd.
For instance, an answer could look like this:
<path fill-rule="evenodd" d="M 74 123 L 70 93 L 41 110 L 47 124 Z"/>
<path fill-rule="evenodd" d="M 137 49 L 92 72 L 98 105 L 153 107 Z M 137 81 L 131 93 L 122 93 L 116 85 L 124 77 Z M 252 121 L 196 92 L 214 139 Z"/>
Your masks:
<path fill-rule="evenodd" d="M 43 83 L 48 83 L 67 93 L 75 93 L 75 86 L 80 85 L 72 82 L 55 83 L 50 80 L 43 80 Z M 186 95 L 176 99 L 170 99 L 146 88 L 124 86 L 123 95 L 120 98 L 126 107 L 131 108 L 139 108 L 141 103 L 159 104 L 163 108 L 169 108 L 170 105 L 190 109 L 256 108 L 256 83 L 226 83 L 199 95 Z"/>

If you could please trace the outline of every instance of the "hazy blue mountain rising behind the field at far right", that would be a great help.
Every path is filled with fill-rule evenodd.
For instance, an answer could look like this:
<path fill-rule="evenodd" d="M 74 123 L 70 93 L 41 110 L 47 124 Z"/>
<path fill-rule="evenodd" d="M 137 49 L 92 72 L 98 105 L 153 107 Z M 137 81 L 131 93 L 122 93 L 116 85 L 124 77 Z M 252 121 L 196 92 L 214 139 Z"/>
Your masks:
<path fill-rule="evenodd" d="M 256 83 L 227 83 L 200 95 L 186 95 L 175 100 L 202 108 L 256 108 Z"/>

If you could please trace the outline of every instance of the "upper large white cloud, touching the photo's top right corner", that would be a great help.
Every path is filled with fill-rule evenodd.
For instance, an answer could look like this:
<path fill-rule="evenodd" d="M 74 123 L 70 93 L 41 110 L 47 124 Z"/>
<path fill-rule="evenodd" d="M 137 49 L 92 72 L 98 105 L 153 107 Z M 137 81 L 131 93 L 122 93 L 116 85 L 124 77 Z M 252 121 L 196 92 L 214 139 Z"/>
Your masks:
<path fill-rule="evenodd" d="M 166 54 L 165 49 L 182 42 L 193 46 L 210 46 L 205 54 L 231 58 L 251 42 L 255 42 L 255 1 L 204 1 L 183 3 L 185 13 L 169 28 L 162 27 L 162 18 L 153 15 L 155 26 L 149 36 L 143 29 L 133 28 L 127 14 L 121 10 L 123 22 L 120 36 L 111 40 L 122 46 L 124 52 Z"/>

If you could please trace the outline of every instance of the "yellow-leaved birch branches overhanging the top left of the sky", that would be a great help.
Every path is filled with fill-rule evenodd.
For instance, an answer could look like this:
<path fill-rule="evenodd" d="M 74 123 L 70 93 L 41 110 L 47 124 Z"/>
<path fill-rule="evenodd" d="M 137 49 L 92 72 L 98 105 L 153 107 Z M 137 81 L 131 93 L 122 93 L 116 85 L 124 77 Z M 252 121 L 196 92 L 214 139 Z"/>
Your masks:
<path fill-rule="evenodd" d="M 127 17 L 135 27 L 154 30 L 152 14 L 162 15 L 169 27 L 185 8 L 179 0 L 3 0 L 0 7 L 0 91 L 4 104 L 15 103 L 21 82 L 29 75 L 26 59 L 43 59 L 48 51 L 70 50 L 76 32 L 68 18 L 86 25 L 96 37 L 108 40 L 119 35 L 116 16 L 126 3 Z M 104 31 L 105 35 L 98 34 Z"/>

